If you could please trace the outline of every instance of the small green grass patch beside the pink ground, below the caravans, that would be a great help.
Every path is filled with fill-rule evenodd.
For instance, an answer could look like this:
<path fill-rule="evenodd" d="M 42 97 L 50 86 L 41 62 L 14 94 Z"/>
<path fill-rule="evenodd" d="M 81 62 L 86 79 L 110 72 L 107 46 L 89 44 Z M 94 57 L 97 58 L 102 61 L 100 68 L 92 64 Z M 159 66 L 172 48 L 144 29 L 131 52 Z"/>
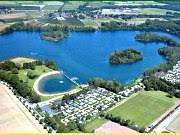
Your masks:
<path fill-rule="evenodd" d="M 95 129 L 99 128 L 102 124 L 104 124 L 107 120 L 103 119 L 103 118 L 96 118 L 93 119 L 91 121 L 89 121 L 86 125 L 85 125 L 85 130 L 87 132 L 93 132 Z"/>

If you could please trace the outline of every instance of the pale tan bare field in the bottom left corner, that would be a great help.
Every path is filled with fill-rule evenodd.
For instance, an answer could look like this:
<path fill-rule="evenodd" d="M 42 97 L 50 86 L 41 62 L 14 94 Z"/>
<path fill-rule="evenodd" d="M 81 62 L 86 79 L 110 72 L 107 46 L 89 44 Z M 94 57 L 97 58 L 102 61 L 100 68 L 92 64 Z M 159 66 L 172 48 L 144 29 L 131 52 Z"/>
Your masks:
<path fill-rule="evenodd" d="M 0 132 L 46 133 L 25 106 L 2 84 L 0 84 Z"/>

